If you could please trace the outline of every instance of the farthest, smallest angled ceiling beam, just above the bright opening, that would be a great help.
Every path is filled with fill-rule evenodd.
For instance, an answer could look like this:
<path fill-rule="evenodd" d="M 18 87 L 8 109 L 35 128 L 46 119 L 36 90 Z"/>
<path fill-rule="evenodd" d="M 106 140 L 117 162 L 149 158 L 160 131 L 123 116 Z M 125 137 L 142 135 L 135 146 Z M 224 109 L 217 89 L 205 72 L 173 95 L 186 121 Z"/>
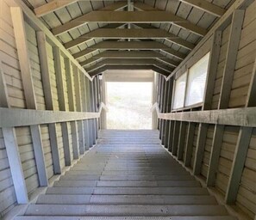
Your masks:
<path fill-rule="evenodd" d="M 104 65 L 103 67 L 92 71 L 90 76 L 96 76 L 97 74 L 103 73 L 105 70 L 153 70 L 164 76 L 169 76 L 170 72 L 159 69 L 154 65 Z"/>

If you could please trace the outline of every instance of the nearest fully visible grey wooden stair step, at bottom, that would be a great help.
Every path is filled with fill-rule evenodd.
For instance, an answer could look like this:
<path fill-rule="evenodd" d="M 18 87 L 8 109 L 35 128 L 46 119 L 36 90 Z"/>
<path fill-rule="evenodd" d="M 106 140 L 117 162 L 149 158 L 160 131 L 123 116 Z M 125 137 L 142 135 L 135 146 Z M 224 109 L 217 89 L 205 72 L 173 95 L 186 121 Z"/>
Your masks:
<path fill-rule="evenodd" d="M 36 216 L 225 216 L 222 205 L 29 205 L 25 215 Z"/>

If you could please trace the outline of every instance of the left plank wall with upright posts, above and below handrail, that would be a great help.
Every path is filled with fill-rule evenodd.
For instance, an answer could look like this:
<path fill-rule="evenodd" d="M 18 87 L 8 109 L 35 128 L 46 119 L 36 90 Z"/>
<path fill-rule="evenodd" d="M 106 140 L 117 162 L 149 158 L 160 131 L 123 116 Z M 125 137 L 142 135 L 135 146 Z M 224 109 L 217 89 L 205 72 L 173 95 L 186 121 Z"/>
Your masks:
<path fill-rule="evenodd" d="M 27 109 L 28 100 L 33 101 L 34 99 L 35 110 L 58 112 L 60 106 L 65 106 L 65 109 L 61 109 L 62 111 L 77 111 L 78 108 L 78 112 L 97 111 L 100 101 L 98 95 L 101 89 L 98 77 L 91 82 L 91 78 L 88 79 L 88 76 L 84 76 L 81 67 L 66 56 L 67 52 L 64 48 L 57 49 L 60 60 L 58 66 L 58 62 L 56 63 L 58 56 L 53 52 L 58 46 L 53 40 L 50 40 L 51 37 L 48 34 L 42 32 L 44 30 L 40 26 L 37 27 L 28 18 L 24 19 L 22 13 L 16 15 L 15 20 L 21 22 L 24 28 L 18 27 L 15 32 L 11 6 L 16 6 L 16 3 L 11 0 L 0 1 L 0 107 Z M 17 46 L 17 42 L 21 42 L 19 40 L 24 40 L 23 43 L 27 46 L 28 53 L 19 51 Z M 28 61 L 27 77 L 22 71 L 26 64 L 21 63 L 21 56 L 25 57 L 25 61 Z M 71 64 L 70 69 L 67 66 L 69 62 Z M 59 77 L 57 75 L 59 69 L 63 77 L 61 82 L 57 78 Z M 32 96 L 26 93 L 27 88 L 24 86 L 29 83 L 29 80 L 34 90 Z M 78 89 L 75 89 L 75 82 L 79 84 Z M 60 98 L 62 84 L 65 103 Z M 82 85 L 84 85 L 84 89 Z M 70 94 L 71 89 L 72 96 Z M 92 93 L 93 89 L 95 93 Z M 97 122 L 97 119 L 90 120 L 95 124 Z M 79 122 L 81 122 L 80 126 L 77 124 Z M 94 130 L 98 129 L 98 126 L 92 127 L 90 124 L 89 133 L 88 127 L 85 128 L 85 125 L 89 125 L 88 119 L 53 123 L 51 126 L 39 125 L 37 132 L 40 140 L 36 142 L 36 148 L 32 126 L 15 127 L 12 131 L 13 136 L 11 138 L 13 139 L 9 139 L 10 137 L 3 133 L 2 130 L 5 128 L 0 128 L 0 218 L 21 201 L 22 203 L 28 202 L 29 198 L 36 194 L 39 187 L 47 186 L 47 182 L 51 181 L 54 175 L 65 170 L 67 156 L 62 127 L 64 123 L 66 123 L 69 156 L 72 164 L 75 159 L 84 155 L 85 150 L 89 149 L 86 145 L 88 139 L 91 139 L 92 144 L 96 142 L 97 131 Z M 81 136 L 81 134 L 83 135 Z M 79 140 L 78 136 L 80 137 Z M 9 143 L 9 140 L 12 142 L 12 146 L 6 144 Z M 38 147 L 41 148 L 41 155 Z M 76 147 L 78 148 L 78 155 L 75 155 Z M 16 163 L 18 167 L 16 168 L 12 164 L 13 156 L 8 153 L 10 150 L 16 152 L 18 159 Z M 16 170 L 21 171 L 20 175 L 15 174 Z M 11 175 L 11 172 L 14 174 Z M 47 180 L 42 180 L 41 173 L 46 174 Z M 22 186 L 23 181 L 24 186 Z"/>

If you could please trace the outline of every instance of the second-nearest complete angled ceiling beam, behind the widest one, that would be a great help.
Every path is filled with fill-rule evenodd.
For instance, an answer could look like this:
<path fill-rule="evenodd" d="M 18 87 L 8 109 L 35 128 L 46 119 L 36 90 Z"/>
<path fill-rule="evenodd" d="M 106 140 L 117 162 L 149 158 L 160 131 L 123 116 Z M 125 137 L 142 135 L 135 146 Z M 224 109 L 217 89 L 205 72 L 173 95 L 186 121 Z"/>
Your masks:
<path fill-rule="evenodd" d="M 116 26 L 117 27 L 117 24 Z M 194 48 L 194 45 L 190 42 L 179 38 L 178 36 L 168 33 L 159 28 L 133 28 L 133 29 L 113 29 L 113 28 L 98 28 L 90 33 L 84 34 L 75 40 L 67 42 L 64 46 L 66 49 L 70 49 L 73 46 L 78 46 L 88 39 L 100 38 L 100 39 L 167 39 L 183 46 L 185 48 Z"/>

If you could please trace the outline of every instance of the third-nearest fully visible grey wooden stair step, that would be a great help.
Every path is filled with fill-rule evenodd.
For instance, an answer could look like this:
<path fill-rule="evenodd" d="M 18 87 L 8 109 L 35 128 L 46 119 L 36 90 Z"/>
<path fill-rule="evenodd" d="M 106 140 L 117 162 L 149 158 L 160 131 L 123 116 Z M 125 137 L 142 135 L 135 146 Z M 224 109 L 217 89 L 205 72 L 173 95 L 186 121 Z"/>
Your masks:
<path fill-rule="evenodd" d="M 209 195 L 202 187 L 48 187 L 47 194 L 71 195 Z"/>

